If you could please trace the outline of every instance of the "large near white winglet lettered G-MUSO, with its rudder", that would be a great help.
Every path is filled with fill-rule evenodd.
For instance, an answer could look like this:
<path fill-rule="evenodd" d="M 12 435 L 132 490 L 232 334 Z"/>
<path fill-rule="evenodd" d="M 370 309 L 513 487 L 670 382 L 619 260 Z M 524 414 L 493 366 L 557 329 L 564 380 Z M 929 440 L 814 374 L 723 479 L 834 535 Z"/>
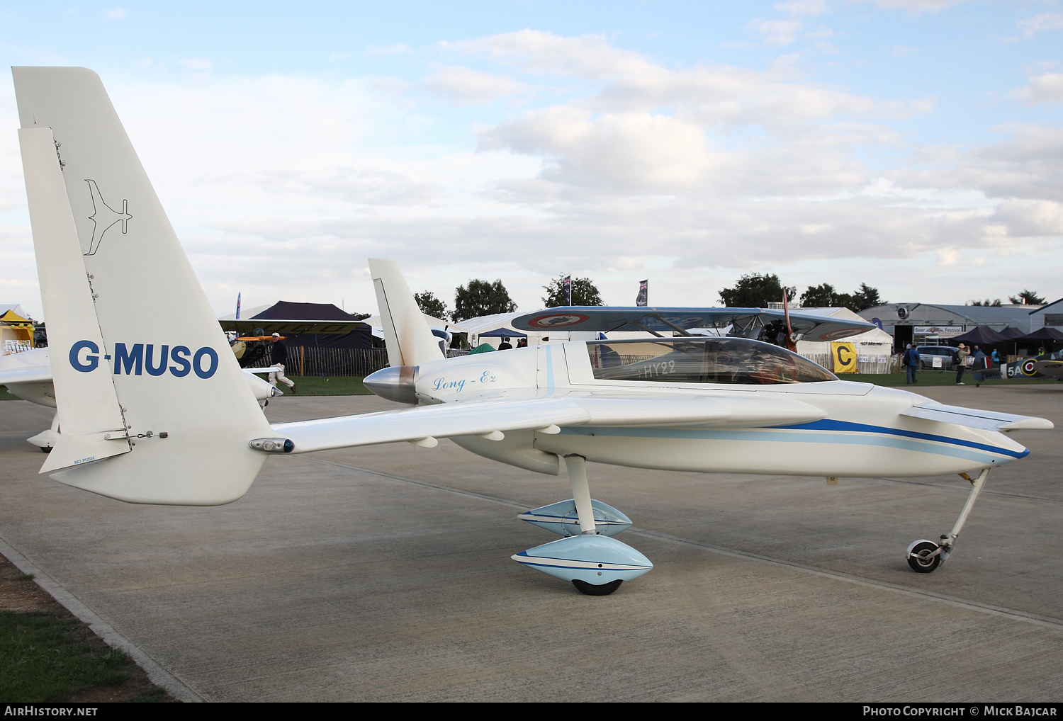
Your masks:
<path fill-rule="evenodd" d="M 32 148 L 31 208 L 45 187 L 36 177 L 45 156 L 50 162 L 48 202 L 55 207 L 33 217 L 41 294 L 64 297 L 69 286 L 83 298 L 74 315 L 70 306 L 45 302 L 60 434 L 82 424 L 86 444 L 131 449 L 95 461 L 98 456 L 83 453 L 75 459 L 82 462 L 52 478 L 135 503 L 236 500 L 265 462 L 249 444 L 270 435 L 269 424 L 100 78 L 85 68 L 20 67 L 12 73 Z M 49 250 L 47 234 L 38 236 L 38 227 L 60 222 L 53 212 L 65 213 L 62 257 Z M 65 384 L 63 377 L 72 380 Z M 116 427 L 124 427 L 129 442 L 88 433 L 107 430 L 98 427 L 100 411 L 91 402 L 71 405 L 89 393 L 103 398 L 92 396 L 92 402 L 108 412 L 119 413 L 120 405 Z M 46 470 L 62 461 L 61 448 Z"/>

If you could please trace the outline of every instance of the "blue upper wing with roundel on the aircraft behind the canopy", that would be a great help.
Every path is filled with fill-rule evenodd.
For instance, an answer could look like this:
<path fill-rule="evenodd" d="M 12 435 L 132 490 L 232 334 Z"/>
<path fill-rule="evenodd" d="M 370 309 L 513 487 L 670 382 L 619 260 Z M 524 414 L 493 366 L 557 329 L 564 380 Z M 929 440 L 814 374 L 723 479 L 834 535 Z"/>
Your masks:
<path fill-rule="evenodd" d="M 573 306 L 549 308 L 520 315 L 512 326 L 521 330 L 645 330 L 651 332 L 679 331 L 691 328 L 726 328 L 739 332 L 759 329 L 773 321 L 784 321 L 782 310 L 774 308 L 615 308 Z M 855 336 L 875 328 L 874 324 L 829 316 L 790 313 L 790 327 L 802 340 L 831 341 Z"/>

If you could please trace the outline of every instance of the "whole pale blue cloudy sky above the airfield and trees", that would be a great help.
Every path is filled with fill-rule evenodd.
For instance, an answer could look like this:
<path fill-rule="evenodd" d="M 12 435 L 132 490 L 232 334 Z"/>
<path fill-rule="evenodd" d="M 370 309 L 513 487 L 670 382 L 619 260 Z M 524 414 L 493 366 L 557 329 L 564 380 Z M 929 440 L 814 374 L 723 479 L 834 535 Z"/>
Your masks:
<path fill-rule="evenodd" d="M 368 257 L 452 308 L 1063 296 L 1058 1 L 0 0 L 0 61 L 100 74 L 219 315 L 375 313 Z M 7 78 L 0 303 L 40 319 Z"/>

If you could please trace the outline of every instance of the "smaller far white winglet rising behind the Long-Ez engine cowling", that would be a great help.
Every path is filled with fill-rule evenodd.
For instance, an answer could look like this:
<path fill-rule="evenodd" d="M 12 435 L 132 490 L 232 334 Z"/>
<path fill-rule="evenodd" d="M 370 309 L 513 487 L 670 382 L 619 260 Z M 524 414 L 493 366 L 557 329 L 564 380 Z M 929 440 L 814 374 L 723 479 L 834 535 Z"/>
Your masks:
<path fill-rule="evenodd" d="M 424 321 L 414 293 L 394 260 L 370 258 L 369 272 L 376 290 L 376 304 L 381 309 L 384 342 L 388 346 L 388 363 L 418 365 L 442 360 L 439 340 Z"/>

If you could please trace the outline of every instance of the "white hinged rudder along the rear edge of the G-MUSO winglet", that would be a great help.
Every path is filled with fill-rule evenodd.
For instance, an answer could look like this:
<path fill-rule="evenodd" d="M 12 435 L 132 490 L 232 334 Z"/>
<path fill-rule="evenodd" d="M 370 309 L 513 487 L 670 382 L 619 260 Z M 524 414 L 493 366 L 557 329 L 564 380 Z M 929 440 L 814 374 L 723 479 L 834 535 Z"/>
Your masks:
<path fill-rule="evenodd" d="M 104 361 L 105 346 L 52 131 L 27 127 L 18 139 L 48 337 L 69 356 L 56 354 L 52 363 L 63 432 L 40 469 L 45 474 L 131 448 L 111 375 L 90 373 Z"/>

